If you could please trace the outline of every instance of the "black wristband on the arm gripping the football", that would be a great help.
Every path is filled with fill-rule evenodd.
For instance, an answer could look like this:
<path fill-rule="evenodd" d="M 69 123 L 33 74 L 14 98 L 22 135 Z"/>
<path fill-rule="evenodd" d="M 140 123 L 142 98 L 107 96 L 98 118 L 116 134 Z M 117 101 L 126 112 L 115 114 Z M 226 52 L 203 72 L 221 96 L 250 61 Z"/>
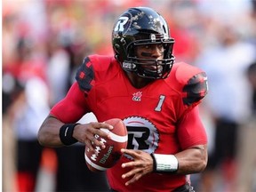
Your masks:
<path fill-rule="evenodd" d="M 60 127 L 59 136 L 60 136 L 61 142 L 64 145 L 69 146 L 78 141 L 73 137 L 73 132 L 74 132 L 75 126 L 76 126 L 76 124 L 63 124 Z"/>

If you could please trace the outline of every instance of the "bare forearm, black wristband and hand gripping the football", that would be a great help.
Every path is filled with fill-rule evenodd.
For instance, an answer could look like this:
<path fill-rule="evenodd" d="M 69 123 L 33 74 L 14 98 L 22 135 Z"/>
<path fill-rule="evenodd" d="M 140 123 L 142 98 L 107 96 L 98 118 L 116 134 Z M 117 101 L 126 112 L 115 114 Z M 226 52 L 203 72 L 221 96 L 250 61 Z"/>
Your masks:
<path fill-rule="evenodd" d="M 55 116 L 47 116 L 38 132 L 38 141 L 45 147 L 61 147 L 76 143 L 84 143 L 93 150 L 93 146 L 105 146 L 97 140 L 94 135 L 109 137 L 106 132 L 101 132 L 100 128 L 113 129 L 109 124 L 91 122 L 89 124 L 64 124 Z M 62 131 L 61 131 L 62 130 Z M 62 132 L 62 133 L 61 133 Z"/>

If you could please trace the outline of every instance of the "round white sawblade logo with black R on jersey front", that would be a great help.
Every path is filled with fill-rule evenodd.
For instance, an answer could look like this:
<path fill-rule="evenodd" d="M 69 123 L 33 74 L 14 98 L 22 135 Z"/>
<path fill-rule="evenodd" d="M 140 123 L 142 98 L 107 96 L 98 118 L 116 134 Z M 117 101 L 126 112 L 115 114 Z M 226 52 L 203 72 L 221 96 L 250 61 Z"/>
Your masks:
<path fill-rule="evenodd" d="M 124 119 L 128 132 L 127 148 L 143 150 L 149 154 L 158 147 L 159 133 L 156 126 L 148 119 L 140 116 L 131 116 Z M 124 155 L 132 159 L 132 156 Z"/>

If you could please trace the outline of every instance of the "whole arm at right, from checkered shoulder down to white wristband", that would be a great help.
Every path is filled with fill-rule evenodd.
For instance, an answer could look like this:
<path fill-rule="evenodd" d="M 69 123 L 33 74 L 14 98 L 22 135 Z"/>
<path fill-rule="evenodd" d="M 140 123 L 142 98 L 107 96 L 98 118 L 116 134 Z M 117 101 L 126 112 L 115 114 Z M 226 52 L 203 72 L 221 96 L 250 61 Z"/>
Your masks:
<path fill-rule="evenodd" d="M 177 173 L 189 174 L 202 172 L 207 164 L 207 136 L 197 105 L 207 94 L 208 84 L 206 74 L 200 71 L 199 68 L 193 66 L 180 67 L 176 72 L 177 76 L 182 71 L 181 69 L 183 72 L 187 71 L 186 84 L 182 89 L 184 96 L 182 101 L 188 109 L 185 110 L 177 124 L 177 136 L 182 151 L 175 154 L 175 158 L 178 159 L 179 165 Z"/>

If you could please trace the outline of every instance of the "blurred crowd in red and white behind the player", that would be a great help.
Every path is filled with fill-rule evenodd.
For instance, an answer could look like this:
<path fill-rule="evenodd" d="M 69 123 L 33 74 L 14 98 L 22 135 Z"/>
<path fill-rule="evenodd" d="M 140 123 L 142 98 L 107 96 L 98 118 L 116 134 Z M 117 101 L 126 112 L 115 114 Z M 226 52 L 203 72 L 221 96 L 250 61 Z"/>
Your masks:
<path fill-rule="evenodd" d="M 59 152 L 37 142 L 39 126 L 65 96 L 86 55 L 113 54 L 114 22 L 127 7 L 140 5 L 168 21 L 176 61 L 208 75 L 201 115 L 209 162 L 204 173 L 191 176 L 196 191 L 256 191 L 255 0 L 3 0 L 2 5 L 3 191 L 61 191 L 67 184 L 56 179 Z M 52 176 L 42 179 L 42 167 Z M 61 171 L 70 176 L 68 169 Z M 76 172 L 71 175 L 76 178 Z"/>

